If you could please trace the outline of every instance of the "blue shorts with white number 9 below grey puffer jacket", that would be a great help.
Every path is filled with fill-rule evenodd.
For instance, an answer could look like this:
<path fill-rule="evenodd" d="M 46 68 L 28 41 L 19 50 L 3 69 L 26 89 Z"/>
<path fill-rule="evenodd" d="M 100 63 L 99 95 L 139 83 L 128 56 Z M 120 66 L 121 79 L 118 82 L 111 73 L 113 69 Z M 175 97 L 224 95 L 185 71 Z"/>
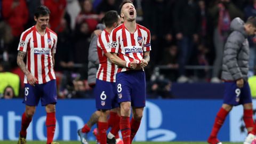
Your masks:
<path fill-rule="evenodd" d="M 225 92 L 223 103 L 231 106 L 243 105 L 251 103 L 251 91 L 248 82 L 240 89 L 236 86 L 236 82 L 225 82 Z"/>

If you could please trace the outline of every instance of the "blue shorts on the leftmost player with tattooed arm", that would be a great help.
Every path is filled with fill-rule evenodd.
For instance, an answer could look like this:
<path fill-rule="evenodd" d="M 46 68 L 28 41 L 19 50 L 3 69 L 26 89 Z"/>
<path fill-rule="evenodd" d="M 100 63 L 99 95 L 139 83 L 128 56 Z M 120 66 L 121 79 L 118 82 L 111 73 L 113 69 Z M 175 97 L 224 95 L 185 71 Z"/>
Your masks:
<path fill-rule="evenodd" d="M 44 84 L 25 84 L 25 97 L 23 103 L 28 106 L 37 106 L 41 98 L 41 105 L 46 106 L 50 103 L 57 103 L 56 80 Z"/>

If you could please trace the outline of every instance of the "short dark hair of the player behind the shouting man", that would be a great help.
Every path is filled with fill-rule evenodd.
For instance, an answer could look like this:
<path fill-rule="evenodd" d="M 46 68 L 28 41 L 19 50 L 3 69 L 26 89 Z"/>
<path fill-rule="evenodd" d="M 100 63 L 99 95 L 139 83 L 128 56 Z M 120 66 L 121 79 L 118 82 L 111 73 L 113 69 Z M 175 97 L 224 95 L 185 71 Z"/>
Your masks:
<path fill-rule="evenodd" d="M 118 21 L 117 11 L 108 11 L 103 18 L 103 22 L 105 23 L 105 26 L 108 28 L 112 27 L 113 24 L 117 21 Z"/>

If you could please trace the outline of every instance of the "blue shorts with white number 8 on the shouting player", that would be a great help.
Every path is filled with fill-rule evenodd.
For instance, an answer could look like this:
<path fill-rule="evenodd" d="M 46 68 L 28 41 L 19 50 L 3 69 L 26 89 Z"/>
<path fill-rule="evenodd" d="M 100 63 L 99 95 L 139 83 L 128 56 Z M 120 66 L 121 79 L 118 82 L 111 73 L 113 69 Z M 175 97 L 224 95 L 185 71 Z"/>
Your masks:
<path fill-rule="evenodd" d="M 143 70 L 128 70 L 116 74 L 118 102 L 131 101 L 132 107 L 145 107 L 146 77 Z"/>

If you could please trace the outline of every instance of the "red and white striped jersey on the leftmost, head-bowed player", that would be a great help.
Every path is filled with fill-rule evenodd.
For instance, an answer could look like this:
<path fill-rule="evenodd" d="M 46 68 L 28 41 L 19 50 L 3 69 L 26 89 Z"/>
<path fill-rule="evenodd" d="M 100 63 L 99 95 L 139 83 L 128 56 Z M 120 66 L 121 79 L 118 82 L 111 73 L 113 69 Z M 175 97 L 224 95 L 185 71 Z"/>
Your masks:
<path fill-rule="evenodd" d="M 41 36 L 33 26 L 24 31 L 20 36 L 18 51 L 27 52 L 27 69 L 43 84 L 55 78 L 52 62 L 52 53 L 55 53 L 57 34 L 46 28 L 46 33 Z M 24 83 L 28 83 L 25 75 Z"/>

